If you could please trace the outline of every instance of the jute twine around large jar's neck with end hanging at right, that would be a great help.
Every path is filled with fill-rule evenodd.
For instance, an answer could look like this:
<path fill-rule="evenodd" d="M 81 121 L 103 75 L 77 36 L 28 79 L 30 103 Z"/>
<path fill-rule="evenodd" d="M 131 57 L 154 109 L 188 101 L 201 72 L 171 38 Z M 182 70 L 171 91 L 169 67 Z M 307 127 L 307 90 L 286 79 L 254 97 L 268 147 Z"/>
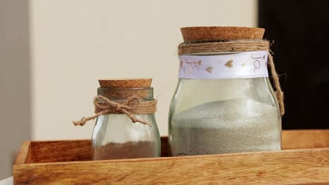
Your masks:
<path fill-rule="evenodd" d="M 216 52 L 249 52 L 256 50 L 269 50 L 269 66 L 276 88 L 276 98 L 278 100 L 280 114 L 285 114 L 285 104 L 283 102 L 283 91 L 280 87 L 273 56 L 271 55 L 270 43 L 266 40 L 236 40 L 236 41 L 205 41 L 201 43 L 181 43 L 179 45 L 179 55 L 191 53 L 216 53 Z"/>

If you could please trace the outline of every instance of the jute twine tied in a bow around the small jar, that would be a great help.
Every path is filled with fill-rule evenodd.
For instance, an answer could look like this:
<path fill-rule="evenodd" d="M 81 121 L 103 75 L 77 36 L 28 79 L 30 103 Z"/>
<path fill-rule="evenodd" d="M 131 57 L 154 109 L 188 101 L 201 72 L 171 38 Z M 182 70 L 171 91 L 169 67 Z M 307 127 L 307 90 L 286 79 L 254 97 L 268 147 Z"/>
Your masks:
<path fill-rule="evenodd" d="M 133 114 L 152 114 L 157 110 L 157 100 L 153 101 L 141 101 L 141 97 L 133 95 L 129 97 L 125 102 L 114 102 L 107 97 L 98 95 L 93 98 L 93 104 L 95 105 L 95 115 L 87 118 L 81 118 L 80 121 L 73 121 L 74 125 L 84 125 L 87 121 L 91 121 L 98 116 L 105 114 L 126 114 L 133 123 L 139 122 L 152 126 L 147 121 L 142 121 Z"/>

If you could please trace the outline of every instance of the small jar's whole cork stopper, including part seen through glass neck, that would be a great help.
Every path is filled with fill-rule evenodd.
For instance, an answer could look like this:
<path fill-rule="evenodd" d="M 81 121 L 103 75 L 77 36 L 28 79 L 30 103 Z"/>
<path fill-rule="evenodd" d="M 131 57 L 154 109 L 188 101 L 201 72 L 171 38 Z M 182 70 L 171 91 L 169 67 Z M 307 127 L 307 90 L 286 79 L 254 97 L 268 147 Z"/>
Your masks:
<path fill-rule="evenodd" d="M 110 100 L 126 100 L 132 95 L 141 98 L 153 98 L 152 78 L 99 79 L 98 95 Z"/>

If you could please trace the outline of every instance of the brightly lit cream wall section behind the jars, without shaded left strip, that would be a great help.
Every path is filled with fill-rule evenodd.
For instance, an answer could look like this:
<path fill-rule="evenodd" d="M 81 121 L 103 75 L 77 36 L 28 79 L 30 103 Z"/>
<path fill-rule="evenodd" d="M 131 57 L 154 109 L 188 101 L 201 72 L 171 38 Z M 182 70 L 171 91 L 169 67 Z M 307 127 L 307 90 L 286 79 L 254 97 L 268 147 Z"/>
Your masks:
<path fill-rule="evenodd" d="M 93 122 L 71 122 L 92 114 L 98 78 L 153 78 L 167 135 L 179 28 L 257 25 L 256 0 L 33 0 L 30 8 L 34 139 L 91 137 Z"/>

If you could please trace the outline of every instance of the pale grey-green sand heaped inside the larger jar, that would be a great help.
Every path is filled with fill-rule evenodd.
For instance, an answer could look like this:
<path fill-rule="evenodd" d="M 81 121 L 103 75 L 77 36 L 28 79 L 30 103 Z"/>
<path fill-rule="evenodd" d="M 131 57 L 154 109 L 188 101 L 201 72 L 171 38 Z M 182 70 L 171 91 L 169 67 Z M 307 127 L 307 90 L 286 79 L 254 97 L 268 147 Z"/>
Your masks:
<path fill-rule="evenodd" d="M 280 150 L 278 109 L 254 100 L 207 102 L 173 117 L 172 155 Z"/>

